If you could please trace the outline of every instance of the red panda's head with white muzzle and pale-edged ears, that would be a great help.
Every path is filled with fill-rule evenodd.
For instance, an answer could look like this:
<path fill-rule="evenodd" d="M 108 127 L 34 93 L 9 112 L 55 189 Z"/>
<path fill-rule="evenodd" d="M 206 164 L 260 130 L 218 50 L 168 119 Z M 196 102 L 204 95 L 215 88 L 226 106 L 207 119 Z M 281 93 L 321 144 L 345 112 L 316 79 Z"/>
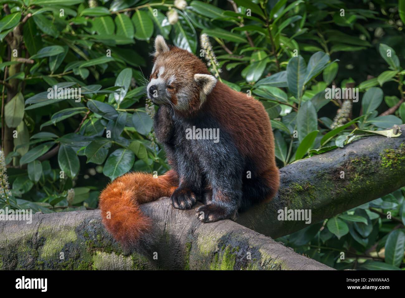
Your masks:
<path fill-rule="evenodd" d="M 161 35 L 156 36 L 153 56 L 149 99 L 179 113 L 198 110 L 217 83 L 205 64 L 184 49 L 168 46 Z"/>

